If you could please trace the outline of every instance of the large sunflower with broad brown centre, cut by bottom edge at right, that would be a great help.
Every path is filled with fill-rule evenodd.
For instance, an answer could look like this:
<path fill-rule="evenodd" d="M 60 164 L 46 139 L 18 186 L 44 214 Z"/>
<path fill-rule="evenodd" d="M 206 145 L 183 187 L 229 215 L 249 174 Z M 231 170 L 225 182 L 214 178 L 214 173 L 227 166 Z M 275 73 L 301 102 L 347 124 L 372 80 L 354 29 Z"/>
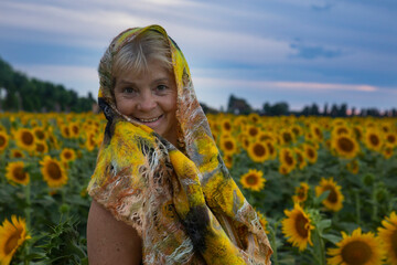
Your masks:
<path fill-rule="evenodd" d="M 362 234 L 361 227 L 353 231 L 352 235 L 342 232 L 342 240 L 336 243 L 337 248 L 328 250 L 331 265 L 377 265 L 382 264 L 383 251 L 380 240 L 374 233 Z"/>

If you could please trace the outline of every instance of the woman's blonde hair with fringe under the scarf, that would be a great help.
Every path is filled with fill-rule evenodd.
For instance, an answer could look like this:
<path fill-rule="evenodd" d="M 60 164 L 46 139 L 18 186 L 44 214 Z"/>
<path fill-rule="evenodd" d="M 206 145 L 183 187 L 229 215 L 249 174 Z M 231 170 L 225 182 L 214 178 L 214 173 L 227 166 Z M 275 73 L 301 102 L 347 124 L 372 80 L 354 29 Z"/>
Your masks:
<path fill-rule="evenodd" d="M 137 35 L 115 55 L 111 74 L 117 77 L 126 71 L 140 74 L 148 71 L 148 61 L 155 60 L 172 70 L 171 50 L 168 40 L 159 32 L 148 30 Z"/>

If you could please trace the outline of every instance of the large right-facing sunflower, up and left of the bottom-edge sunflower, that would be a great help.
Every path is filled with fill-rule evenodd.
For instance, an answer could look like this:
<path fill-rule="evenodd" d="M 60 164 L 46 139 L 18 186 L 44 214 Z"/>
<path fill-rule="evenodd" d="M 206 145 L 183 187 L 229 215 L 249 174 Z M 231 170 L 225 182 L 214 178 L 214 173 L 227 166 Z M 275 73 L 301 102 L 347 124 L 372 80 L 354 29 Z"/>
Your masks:
<path fill-rule="evenodd" d="M 313 245 L 311 231 L 314 226 L 311 224 L 310 215 L 298 203 L 291 211 L 285 210 L 285 214 L 287 218 L 281 221 L 281 225 L 287 241 L 299 247 L 299 251 L 304 251 L 308 243 Z"/>

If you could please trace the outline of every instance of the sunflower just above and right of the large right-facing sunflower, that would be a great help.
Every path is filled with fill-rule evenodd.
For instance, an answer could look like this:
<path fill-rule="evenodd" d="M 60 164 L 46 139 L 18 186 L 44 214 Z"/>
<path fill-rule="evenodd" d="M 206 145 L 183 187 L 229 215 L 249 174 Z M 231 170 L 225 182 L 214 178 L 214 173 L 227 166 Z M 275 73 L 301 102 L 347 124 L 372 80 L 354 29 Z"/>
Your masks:
<path fill-rule="evenodd" d="M 315 187 L 316 197 L 320 197 L 325 191 L 330 191 L 330 194 L 322 202 L 324 206 L 334 212 L 340 211 L 343 206 L 344 195 L 341 192 L 341 187 L 333 181 L 333 178 L 329 180 L 321 178 L 320 186 Z"/>

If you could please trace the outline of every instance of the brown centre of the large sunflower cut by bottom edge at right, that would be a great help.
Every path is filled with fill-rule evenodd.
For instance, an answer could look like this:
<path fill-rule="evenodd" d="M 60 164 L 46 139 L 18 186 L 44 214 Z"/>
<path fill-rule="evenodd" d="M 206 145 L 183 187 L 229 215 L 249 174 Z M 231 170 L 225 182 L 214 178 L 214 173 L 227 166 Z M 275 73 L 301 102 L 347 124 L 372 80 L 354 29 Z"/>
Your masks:
<path fill-rule="evenodd" d="M 373 252 L 365 242 L 353 241 L 342 248 L 341 254 L 343 262 L 346 264 L 362 265 L 371 259 Z"/>

